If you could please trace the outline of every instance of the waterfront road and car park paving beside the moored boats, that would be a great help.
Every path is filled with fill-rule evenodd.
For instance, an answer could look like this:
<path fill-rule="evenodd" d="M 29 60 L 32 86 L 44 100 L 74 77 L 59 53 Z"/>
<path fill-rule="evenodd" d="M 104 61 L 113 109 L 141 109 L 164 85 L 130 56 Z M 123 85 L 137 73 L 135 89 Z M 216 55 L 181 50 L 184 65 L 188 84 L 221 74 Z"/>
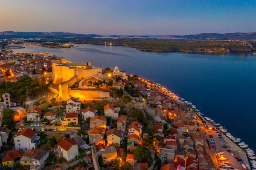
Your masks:
<path fill-rule="evenodd" d="M 230 165 L 231 167 L 235 168 L 235 169 L 242 169 L 241 167 L 241 164 L 239 164 L 236 159 L 234 157 L 232 157 L 230 155 L 230 153 L 227 152 L 227 150 L 231 150 L 233 151 L 232 153 L 243 159 L 244 162 L 247 162 L 247 158 L 244 156 L 244 151 L 241 150 L 240 147 L 238 147 L 236 144 L 233 143 L 233 141 L 231 141 L 229 138 L 227 138 L 224 134 L 222 134 L 222 137 L 224 138 L 225 142 L 221 142 L 218 138 L 218 134 L 213 131 L 213 130 L 209 130 L 207 129 L 206 127 L 204 127 L 202 121 L 198 118 L 198 121 L 200 122 L 201 124 L 201 131 L 200 131 L 200 135 L 206 139 L 206 136 L 205 136 L 205 132 L 207 133 L 207 136 L 209 134 L 212 134 L 212 137 L 215 141 L 215 145 L 217 147 L 217 150 L 213 150 L 213 149 L 209 149 L 208 147 L 208 144 L 207 144 L 207 153 L 211 156 L 212 160 L 213 160 L 213 163 L 215 164 L 216 167 L 218 168 L 223 168 L 223 167 L 219 167 L 219 163 L 221 163 L 221 161 L 218 161 L 216 156 L 215 156 L 215 153 L 218 153 L 218 152 L 224 152 L 224 155 L 225 157 L 227 157 L 227 160 L 224 160 L 224 161 L 228 161 L 228 165 Z M 229 145 L 228 148 L 224 148 L 222 146 L 224 145 Z M 248 162 L 247 162 L 248 163 Z"/>

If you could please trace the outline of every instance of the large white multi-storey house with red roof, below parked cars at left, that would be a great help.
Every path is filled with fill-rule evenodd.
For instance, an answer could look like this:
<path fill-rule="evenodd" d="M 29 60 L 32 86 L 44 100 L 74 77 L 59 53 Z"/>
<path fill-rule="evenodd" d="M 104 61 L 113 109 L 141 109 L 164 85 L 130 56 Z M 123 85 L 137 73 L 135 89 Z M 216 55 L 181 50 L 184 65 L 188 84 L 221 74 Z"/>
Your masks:
<path fill-rule="evenodd" d="M 40 143 L 40 136 L 36 131 L 25 128 L 14 135 L 14 143 L 16 150 L 33 150 Z"/>

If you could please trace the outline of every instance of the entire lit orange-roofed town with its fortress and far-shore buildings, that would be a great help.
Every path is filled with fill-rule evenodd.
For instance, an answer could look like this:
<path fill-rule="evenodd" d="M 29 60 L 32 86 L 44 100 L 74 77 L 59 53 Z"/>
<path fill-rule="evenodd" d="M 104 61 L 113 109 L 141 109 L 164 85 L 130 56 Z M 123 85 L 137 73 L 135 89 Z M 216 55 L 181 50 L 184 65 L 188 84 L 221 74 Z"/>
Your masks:
<path fill-rule="evenodd" d="M 1 170 L 256 168 L 254 151 L 240 138 L 162 84 L 115 63 L 102 69 L 48 52 L 12 51 L 76 47 L 45 41 L 1 40 Z"/>

